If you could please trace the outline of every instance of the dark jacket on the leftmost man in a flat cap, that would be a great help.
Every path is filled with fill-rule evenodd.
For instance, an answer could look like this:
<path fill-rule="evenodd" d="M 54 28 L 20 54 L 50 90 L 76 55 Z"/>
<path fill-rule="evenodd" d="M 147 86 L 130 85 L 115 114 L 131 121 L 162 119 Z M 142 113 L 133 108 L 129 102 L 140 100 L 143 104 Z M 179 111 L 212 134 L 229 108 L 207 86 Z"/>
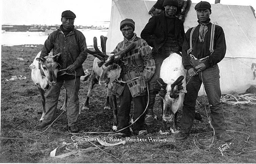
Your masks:
<path fill-rule="evenodd" d="M 77 67 L 76 75 L 82 76 L 85 75 L 82 64 L 87 58 L 87 53 L 84 51 L 86 47 L 85 37 L 82 32 L 74 29 L 65 36 L 64 33 L 58 29 L 52 32 L 45 41 L 40 58 L 48 56 L 51 50 L 53 50 L 53 55 L 61 53 L 58 59 L 58 62 L 61 64 L 61 69 L 75 64 Z M 75 75 L 75 73 L 70 74 Z"/>

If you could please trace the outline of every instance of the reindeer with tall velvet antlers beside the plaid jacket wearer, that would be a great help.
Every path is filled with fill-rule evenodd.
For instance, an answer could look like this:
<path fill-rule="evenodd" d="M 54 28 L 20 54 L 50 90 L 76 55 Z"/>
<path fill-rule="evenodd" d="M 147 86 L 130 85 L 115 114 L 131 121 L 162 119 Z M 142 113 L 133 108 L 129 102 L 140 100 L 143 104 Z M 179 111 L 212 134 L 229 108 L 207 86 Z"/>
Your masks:
<path fill-rule="evenodd" d="M 99 83 L 101 86 L 108 87 L 107 89 L 107 99 L 105 102 L 104 109 L 112 108 L 113 114 L 114 114 L 114 125 L 112 129 L 114 131 L 117 130 L 117 103 L 116 103 L 116 96 L 111 95 L 111 91 L 113 88 L 112 82 L 115 79 L 118 79 L 121 73 L 121 58 L 129 51 L 133 49 L 135 46 L 135 43 L 132 43 L 129 45 L 125 50 L 118 52 L 116 54 L 106 54 L 106 41 L 107 37 L 101 36 L 101 46 L 102 46 L 102 52 L 99 51 L 97 47 L 97 38 L 93 38 L 93 47 L 95 51 L 90 51 L 86 49 L 86 51 L 96 57 L 93 61 L 93 70 L 91 74 L 91 80 L 90 80 L 90 87 L 88 90 L 86 101 L 84 102 L 83 109 L 89 108 L 89 98 L 91 91 L 93 89 L 93 86 L 96 83 Z M 110 104 L 109 104 L 110 100 Z"/>

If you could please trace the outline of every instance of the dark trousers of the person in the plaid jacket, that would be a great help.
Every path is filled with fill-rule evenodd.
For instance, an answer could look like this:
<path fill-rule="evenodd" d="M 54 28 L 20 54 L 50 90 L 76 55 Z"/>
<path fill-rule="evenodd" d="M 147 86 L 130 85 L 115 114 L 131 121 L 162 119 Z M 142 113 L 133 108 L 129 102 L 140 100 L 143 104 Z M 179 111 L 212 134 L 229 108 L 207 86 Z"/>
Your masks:
<path fill-rule="evenodd" d="M 120 108 L 118 111 L 118 126 L 117 130 L 120 130 L 122 128 L 125 128 L 129 126 L 129 120 L 130 120 L 130 110 L 131 110 L 131 101 L 133 99 L 134 103 L 134 121 L 143 113 L 143 111 L 146 108 L 146 95 L 145 96 L 136 96 L 132 97 L 131 92 L 125 84 L 123 93 L 121 96 L 119 96 L 120 101 Z M 139 120 L 137 120 L 134 125 L 134 130 L 142 130 L 143 129 L 143 123 L 144 123 L 144 116 L 143 114 Z M 130 129 L 126 128 L 122 130 L 123 133 L 130 133 Z"/>

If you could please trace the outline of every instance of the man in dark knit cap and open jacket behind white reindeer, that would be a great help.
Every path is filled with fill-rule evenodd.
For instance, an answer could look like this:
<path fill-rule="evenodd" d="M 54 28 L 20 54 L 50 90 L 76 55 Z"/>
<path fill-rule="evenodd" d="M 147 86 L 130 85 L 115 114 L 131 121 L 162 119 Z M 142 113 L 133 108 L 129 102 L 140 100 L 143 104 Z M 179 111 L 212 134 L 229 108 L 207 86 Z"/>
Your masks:
<path fill-rule="evenodd" d="M 178 5 L 178 0 L 165 0 L 165 11 L 153 15 L 141 32 L 141 38 L 153 47 L 152 57 L 155 60 L 155 74 L 149 81 L 149 105 L 145 117 L 147 125 L 153 124 L 155 95 L 161 90 L 157 83 L 161 65 L 171 53 L 181 55 L 185 32 L 183 22 L 175 16 Z"/>

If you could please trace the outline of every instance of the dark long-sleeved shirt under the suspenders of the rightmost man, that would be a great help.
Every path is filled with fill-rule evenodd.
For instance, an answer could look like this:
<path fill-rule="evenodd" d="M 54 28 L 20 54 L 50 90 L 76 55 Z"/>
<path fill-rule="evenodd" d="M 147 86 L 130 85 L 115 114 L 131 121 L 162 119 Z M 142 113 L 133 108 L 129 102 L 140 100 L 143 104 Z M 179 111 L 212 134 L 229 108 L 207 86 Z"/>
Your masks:
<path fill-rule="evenodd" d="M 198 25 L 193 34 L 192 34 L 192 47 L 193 51 L 192 54 L 197 59 L 202 59 L 208 55 L 210 55 L 209 47 L 210 47 L 210 35 L 211 35 L 211 23 L 207 24 L 208 31 L 205 35 L 204 42 L 199 41 L 199 28 L 200 25 Z M 192 28 L 190 28 L 185 35 L 184 44 L 182 48 L 182 64 L 185 69 L 189 70 L 192 68 L 192 64 L 190 63 L 189 55 L 187 53 L 187 50 L 190 48 L 190 33 Z M 222 27 L 215 25 L 215 34 L 214 34 L 214 52 L 211 54 L 209 58 L 206 59 L 205 62 L 203 62 L 206 66 L 206 68 L 212 67 L 219 63 L 226 54 L 226 41 L 225 41 L 225 35 Z"/>

